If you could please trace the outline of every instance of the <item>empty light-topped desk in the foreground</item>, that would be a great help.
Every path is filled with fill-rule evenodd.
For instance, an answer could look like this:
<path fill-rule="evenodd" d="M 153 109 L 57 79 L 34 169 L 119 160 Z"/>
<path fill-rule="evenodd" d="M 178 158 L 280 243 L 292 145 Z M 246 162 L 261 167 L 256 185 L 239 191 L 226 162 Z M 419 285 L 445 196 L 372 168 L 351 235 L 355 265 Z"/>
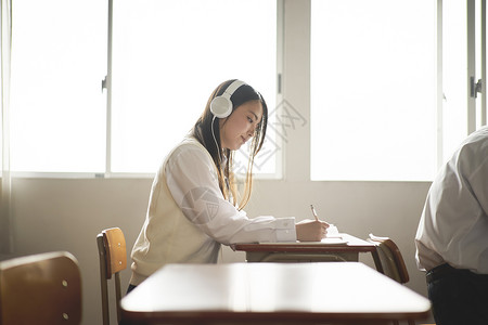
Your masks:
<path fill-rule="evenodd" d="M 387 324 L 431 309 L 358 262 L 169 264 L 120 303 L 134 324 Z"/>

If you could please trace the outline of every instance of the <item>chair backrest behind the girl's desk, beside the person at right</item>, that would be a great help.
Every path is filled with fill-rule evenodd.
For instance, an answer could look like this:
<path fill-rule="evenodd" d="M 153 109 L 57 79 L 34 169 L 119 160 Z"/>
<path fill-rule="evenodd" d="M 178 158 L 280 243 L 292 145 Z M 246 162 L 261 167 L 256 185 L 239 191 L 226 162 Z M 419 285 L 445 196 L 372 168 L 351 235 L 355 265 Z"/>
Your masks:
<path fill-rule="evenodd" d="M 370 234 L 367 240 L 376 245 L 383 273 L 401 284 L 408 283 L 410 280 L 409 272 L 395 242 L 388 237 L 378 237 L 373 234 Z"/>

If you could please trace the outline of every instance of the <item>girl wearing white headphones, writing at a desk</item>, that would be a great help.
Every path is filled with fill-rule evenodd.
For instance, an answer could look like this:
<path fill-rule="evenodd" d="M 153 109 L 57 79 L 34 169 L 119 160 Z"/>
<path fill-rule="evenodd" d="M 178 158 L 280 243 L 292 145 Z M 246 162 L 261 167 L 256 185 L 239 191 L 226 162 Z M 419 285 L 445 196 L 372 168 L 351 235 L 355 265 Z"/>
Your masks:
<path fill-rule="evenodd" d="M 252 169 L 262 146 L 268 107 L 240 80 L 222 82 L 190 134 L 166 157 L 154 179 L 145 222 L 132 248 L 129 290 L 167 263 L 216 263 L 220 245 L 320 240 L 328 223 L 294 218 L 247 218 Z M 240 197 L 233 153 L 251 140 Z"/>

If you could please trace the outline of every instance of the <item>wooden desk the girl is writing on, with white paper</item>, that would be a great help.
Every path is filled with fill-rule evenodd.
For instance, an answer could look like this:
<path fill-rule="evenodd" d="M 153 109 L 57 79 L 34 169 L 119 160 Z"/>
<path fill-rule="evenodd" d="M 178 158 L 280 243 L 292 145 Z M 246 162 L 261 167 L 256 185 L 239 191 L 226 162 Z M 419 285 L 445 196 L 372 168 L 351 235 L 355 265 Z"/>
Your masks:
<path fill-rule="evenodd" d="M 371 252 L 375 259 L 376 246 L 348 234 L 339 234 L 347 244 L 328 243 L 266 243 L 235 244 L 233 250 L 246 252 L 248 262 L 322 262 L 355 261 L 359 252 Z M 334 238 L 331 238 L 333 242 Z"/>

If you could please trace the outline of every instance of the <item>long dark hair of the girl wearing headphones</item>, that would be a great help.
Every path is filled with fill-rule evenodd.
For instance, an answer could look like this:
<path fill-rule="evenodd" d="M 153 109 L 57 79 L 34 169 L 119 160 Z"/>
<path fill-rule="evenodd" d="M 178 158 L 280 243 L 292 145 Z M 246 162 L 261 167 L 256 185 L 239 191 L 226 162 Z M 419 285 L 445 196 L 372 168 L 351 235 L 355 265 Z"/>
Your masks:
<path fill-rule="evenodd" d="M 220 191 L 222 192 L 223 197 L 226 199 L 229 199 L 231 195 L 233 204 L 235 206 L 237 204 L 237 184 L 233 172 L 234 152 L 228 148 L 224 148 L 222 151 L 222 146 L 220 144 L 219 119 L 214 118 L 214 114 L 211 114 L 210 112 L 211 100 L 214 100 L 216 96 L 221 95 L 233 81 L 235 81 L 235 79 L 227 80 L 220 83 L 214 90 L 210 98 L 208 99 L 204 113 L 193 127 L 193 136 L 195 136 L 198 140 L 198 142 L 202 143 L 202 145 L 205 146 L 208 153 L 210 154 L 211 158 L 214 159 L 214 164 L 218 170 Z M 237 208 L 241 210 L 244 208 L 244 206 L 248 203 L 251 198 L 251 192 L 253 188 L 254 158 L 256 157 L 257 153 L 261 150 L 262 143 L 265 142 L 266 129 L 268 126 L 268 106 L 266 105 L 266 101 L 262 98 L 262 95 L 248 84 L 243 84 L 240 88 L 237 88 L 230 98 L 230 100 L 232 102 L 232 112 L 242 104 L 247 103 L 249 101 L 259 101 L 262 105 L 262 119 L 256 128 L 256 132 L 252 139 L 249 146 L 249 159 L 247 161 L 244 191 L 237 206 Z M 227 160 L 222 159 L 220 153 L 222 153 L 227 157 Z M 229 186 L 226 185 L 226 179 L 229 181 Z"/>

